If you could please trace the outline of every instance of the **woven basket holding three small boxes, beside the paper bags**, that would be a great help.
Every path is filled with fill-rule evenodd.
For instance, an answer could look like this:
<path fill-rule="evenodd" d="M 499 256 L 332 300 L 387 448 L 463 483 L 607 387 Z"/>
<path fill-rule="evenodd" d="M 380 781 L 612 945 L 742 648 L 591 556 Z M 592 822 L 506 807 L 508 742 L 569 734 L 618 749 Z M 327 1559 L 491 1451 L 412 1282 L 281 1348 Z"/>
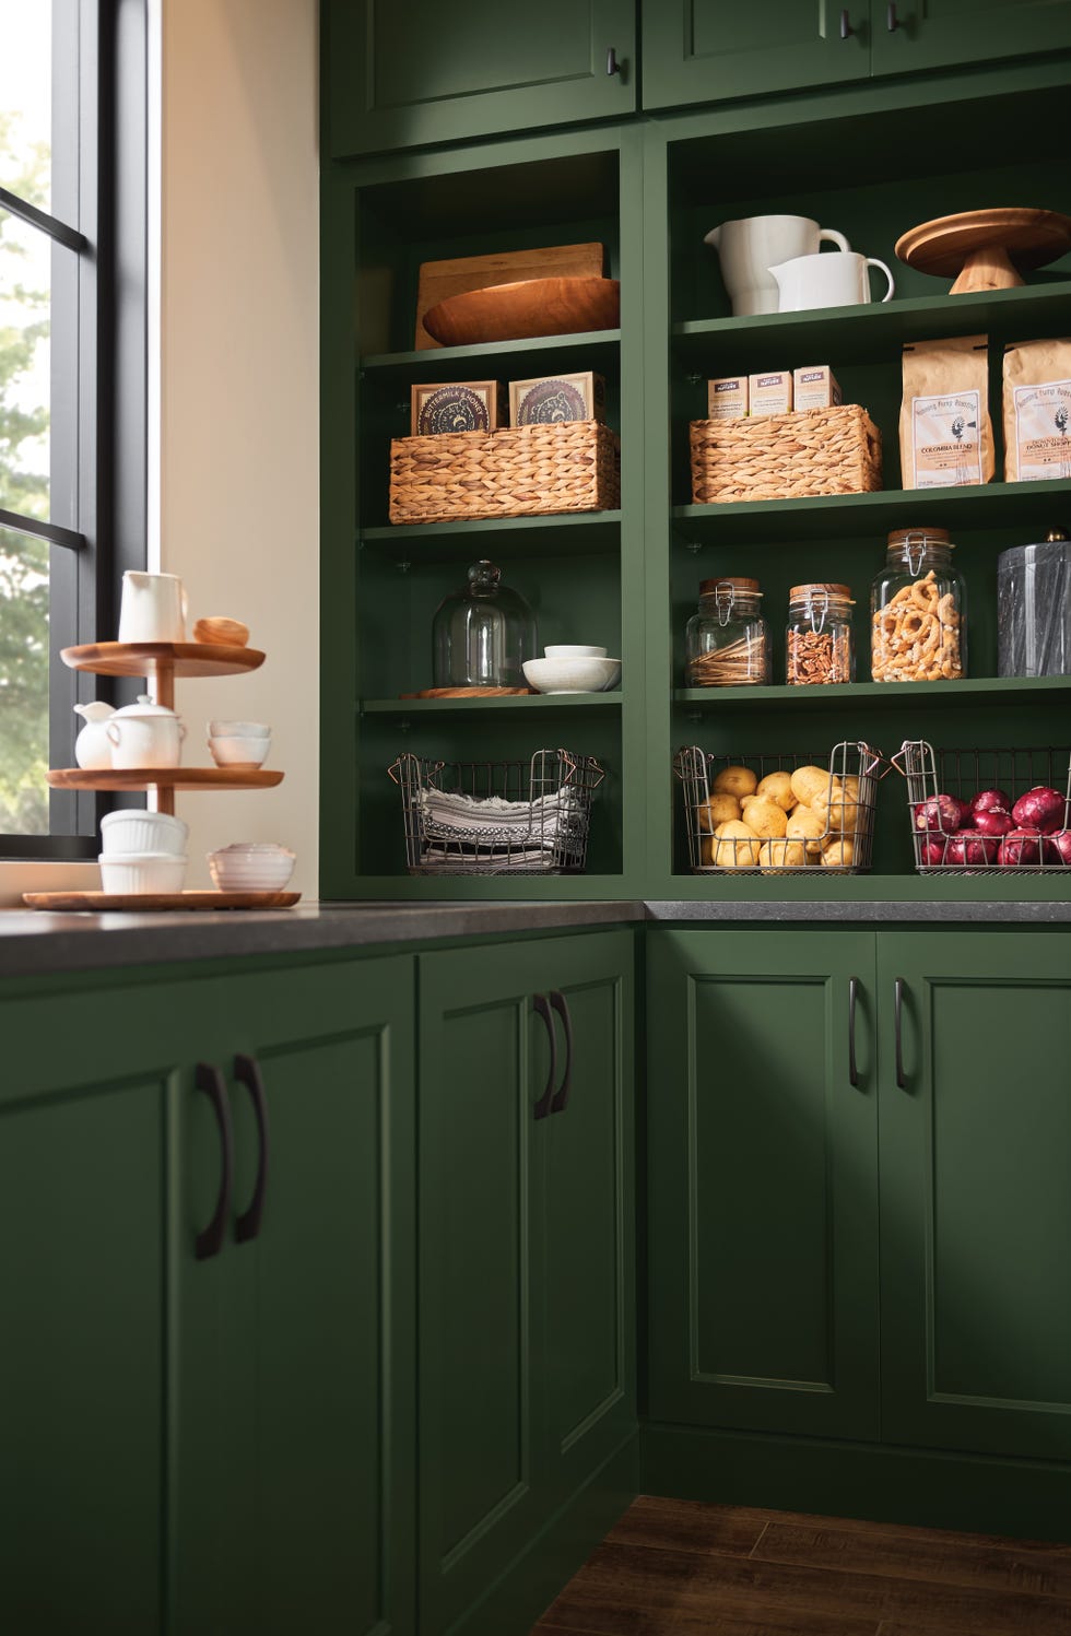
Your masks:
<path fill-rule="evenodd" d="M 881 434 L 858 404 L 693 420 L 692 499 L 795 501 L 881 488 Z"/>

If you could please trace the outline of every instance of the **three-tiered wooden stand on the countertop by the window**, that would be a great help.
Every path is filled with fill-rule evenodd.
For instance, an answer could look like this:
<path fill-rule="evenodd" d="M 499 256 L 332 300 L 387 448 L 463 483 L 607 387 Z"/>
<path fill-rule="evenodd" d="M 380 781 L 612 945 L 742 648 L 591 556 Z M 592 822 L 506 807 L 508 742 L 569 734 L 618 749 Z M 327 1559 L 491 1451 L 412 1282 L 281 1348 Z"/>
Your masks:
<path fill-rule="evenodd" d="M 265 654 L 214 641 L 95 641 L 64 648 L 64 664 L 93 676 L 136 676 L 154 684 L 155 703 L 175 708 L 175 677 L 239 676 L 257 671 Z M 281 772 L 240 767 L 56 767 L 47 774 L 57 790 L 146 790 L 149 810 L 175 811 L 175 790 L 270 790 Z M 289 908 L 299 892 L 26 892 L 23 901 L 39 910 L 167 910 L 167 908 Z"/>

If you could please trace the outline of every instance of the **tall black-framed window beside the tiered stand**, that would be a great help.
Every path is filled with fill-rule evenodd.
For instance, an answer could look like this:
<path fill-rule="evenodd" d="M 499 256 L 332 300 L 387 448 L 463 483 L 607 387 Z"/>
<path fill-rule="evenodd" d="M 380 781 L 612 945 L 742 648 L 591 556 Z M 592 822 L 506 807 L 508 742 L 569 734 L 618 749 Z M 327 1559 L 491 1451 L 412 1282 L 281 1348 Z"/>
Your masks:
<path fill-rule="evenodd" d="M 60 649 L 146 535 L 146 0 L 0 0 L 0 856 L 95 857 Z"/>

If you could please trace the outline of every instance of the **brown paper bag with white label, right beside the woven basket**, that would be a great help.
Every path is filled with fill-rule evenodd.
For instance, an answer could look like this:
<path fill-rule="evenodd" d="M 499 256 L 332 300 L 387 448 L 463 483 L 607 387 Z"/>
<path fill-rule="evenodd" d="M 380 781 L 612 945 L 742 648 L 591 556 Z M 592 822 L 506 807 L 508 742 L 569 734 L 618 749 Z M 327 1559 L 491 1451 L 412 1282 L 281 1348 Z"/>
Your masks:
<path fill-rule="evenodd" d="M 986 335 L 904 347 L 899 460 L 906 489 L 989 483 L 996 463 Z"/>

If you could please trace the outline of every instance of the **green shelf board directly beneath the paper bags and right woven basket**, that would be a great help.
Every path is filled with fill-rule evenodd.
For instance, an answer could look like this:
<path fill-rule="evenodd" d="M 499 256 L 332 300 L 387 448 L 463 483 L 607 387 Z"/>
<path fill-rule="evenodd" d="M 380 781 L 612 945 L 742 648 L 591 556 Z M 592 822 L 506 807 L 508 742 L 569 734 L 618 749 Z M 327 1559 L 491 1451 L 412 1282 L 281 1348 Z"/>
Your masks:
<path fill-rule="evenodd" d="M 783 540 L 878 535 L 922 520 L 940 528 L 1051 527 L 1071 512 L 1071 483 L 983 483 L 948 489 L 881 489 L 798 501 L 728 501 L 675 506 L 674 524 L 688 542 L 764 545 Z"/>

